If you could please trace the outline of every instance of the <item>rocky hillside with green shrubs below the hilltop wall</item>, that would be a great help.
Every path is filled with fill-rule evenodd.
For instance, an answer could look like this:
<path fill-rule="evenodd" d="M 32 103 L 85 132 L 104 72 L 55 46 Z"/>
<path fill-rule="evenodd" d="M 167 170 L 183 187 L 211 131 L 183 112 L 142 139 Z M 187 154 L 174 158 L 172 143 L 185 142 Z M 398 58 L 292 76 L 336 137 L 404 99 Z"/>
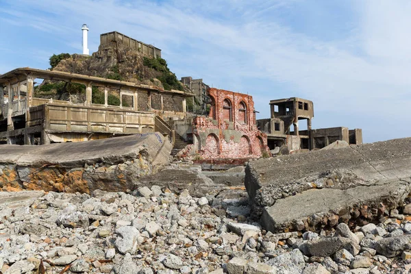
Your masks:
<path fill-rule="evenodd" d="M 122 44 L 100 45 L 91 56 L 73 54 L 69 58 L 64 57 L 55 66 L 52 64 L 52 69 L 148 84 L 165 90 L 185 88 L 170 71 L 166 60 L 149 58 Z"/>

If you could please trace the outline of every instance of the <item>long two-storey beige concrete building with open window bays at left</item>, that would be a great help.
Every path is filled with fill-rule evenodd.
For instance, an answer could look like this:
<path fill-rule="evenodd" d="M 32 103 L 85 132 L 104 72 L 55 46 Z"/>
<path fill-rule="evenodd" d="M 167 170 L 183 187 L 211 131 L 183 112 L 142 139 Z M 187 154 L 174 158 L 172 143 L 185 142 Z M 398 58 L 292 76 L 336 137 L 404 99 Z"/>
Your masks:
<path fill-rule="evenodd" d="M 43 80 L 81 84 L 84 95 L 38 98 L 35 91 Z M 95 102 L 95 92 L 104 103 Z M 192 93 L 101 77 L 14 69 L 0 76 L 0 140 L 43 145 L 156 131 L 175 143 L 175 133 L 163 119 L 184 119 L 188 97 Z"/>

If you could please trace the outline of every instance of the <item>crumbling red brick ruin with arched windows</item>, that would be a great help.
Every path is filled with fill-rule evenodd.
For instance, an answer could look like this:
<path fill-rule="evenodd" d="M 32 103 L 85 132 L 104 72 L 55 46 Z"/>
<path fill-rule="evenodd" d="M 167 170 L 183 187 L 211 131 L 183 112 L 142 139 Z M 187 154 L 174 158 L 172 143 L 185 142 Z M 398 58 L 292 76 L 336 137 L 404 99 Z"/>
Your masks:
<path fill-rule="evenodd" d="M 253 97 L 208 89 L 210 114 L 193 120 L 194 149 L 202 159 L 259 158 L 267 138 L 257 129 Z"/>

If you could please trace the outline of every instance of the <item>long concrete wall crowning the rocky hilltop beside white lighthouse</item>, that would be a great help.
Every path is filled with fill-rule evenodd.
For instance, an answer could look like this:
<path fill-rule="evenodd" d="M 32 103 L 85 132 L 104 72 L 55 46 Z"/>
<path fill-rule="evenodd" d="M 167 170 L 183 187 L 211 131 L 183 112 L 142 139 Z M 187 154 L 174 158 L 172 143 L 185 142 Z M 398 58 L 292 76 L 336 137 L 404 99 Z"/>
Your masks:
<path fill-rule="evenodd" d="M 111 43 L 121 43 L 140 53 L 154 58 L 161 57 L 161 49 L 158 49 L 153 45 L 147 45 L 119 32 L 108 32 L 106 34 L 100 34 L 100 47 L 110 45 Z"/>

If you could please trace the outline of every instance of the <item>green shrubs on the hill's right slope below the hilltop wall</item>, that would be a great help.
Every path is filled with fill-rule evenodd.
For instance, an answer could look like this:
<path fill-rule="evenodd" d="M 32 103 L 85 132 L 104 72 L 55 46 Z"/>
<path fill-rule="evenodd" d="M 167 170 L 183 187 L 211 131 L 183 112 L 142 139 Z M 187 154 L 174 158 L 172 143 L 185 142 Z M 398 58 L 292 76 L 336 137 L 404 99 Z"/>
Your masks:
<path fill-rule="evenodd" d="M 184 90 L 182 84 L 179 82 L 175 74 L 172 73 L 167 66 L 166 60 L 163 58 L 143 58 L 143 63 L 155 71 L 159 71 L 161 75 L 157 77 L 163 84 L 165 90 Z"/>

